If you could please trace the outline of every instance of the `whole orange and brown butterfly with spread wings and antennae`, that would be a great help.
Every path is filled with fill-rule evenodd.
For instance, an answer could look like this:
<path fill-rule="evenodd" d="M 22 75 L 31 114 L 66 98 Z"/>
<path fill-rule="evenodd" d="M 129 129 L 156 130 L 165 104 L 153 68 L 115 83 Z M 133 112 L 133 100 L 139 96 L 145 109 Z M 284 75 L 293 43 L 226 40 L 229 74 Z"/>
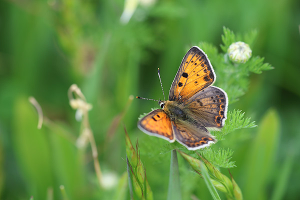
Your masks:
<path fill-rule="evenodd" d="M 161 84 L 159 68 L 158 76 Z M 212 86 L 215 77 L 204 51 L 197 46 L 191 47 L 181 61 L 168 100 L 156 100 L 161 109 L 154 109 L 142 117 L 137 122 L 138 128 L 169 142 L 176 140 L 188 150 L 215 143 L 216 139 L 208 130 L 220 130 L 224 126 L 228 106 L 226 92 Z"/>

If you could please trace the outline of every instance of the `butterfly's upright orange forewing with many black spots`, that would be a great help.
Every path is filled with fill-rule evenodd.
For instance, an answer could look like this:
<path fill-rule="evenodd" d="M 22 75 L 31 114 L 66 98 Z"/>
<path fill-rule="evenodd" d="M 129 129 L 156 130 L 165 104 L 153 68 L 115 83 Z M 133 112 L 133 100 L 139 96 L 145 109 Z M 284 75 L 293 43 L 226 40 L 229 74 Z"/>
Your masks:
<path fill-rule="evenodd" d="M 169 100 L 183 102 L 214 80 L 215 74 L 206 54 L 193 46 L 181 61 L 169 91 Z"/>

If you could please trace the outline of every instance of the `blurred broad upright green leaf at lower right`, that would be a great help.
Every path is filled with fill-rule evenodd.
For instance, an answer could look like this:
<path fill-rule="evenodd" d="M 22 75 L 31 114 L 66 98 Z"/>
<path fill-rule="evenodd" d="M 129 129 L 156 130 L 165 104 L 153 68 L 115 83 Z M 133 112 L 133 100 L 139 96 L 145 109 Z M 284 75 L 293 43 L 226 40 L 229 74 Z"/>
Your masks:
<path fill-rule="evenodd" d="M 280 120 L 275 109 L 269 109 L 262 117 L 261 123 L 247 155 L 247 169 L 244 171 L 245 199 L 264 196 L 267 181 L 272 168 L 279 140 Z"/>

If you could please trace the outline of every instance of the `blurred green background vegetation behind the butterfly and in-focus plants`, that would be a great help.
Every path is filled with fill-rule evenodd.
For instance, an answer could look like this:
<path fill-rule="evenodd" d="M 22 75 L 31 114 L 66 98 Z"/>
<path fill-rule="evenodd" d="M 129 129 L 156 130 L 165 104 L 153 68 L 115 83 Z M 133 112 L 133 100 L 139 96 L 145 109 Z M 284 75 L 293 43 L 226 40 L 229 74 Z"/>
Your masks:
<path fill-rule="evenodd" d="M 69 199 L 112 199 L 118 190 L 98 186 L 90 147 L 75 146 L 80 122 L 68 104 L 72 83 L 93 105 L 89 122 L 103 174 L 118 179 L 126 170 L 124 124 L 132 143 L 139 140 L 154 199 L 165 199 L 170 154 L 159 154 L 159 147 L 166 141 L 136 127 L 139 114 L 158 105 L 126 103 L 131 94 L 163 98 L 157 67 L 167 95 L 186 50 L 199 41 L 219 47 L 222 26 L 235 33 L 257 29 L 252 54 L 275 68 L 251 74 L 248 92 L 228 107 L 243 110 L 258 127 L 232 132 L 218 145 L 234 151 L 230 171 L 244 199 L 300 199 L 300 1 L 127 3 L 123 13 L 123 0 L 0 1 L 0 199 L 49 193 L 62 199 L 59 185 Z M 41 129 L 28 96 L 47 117 Z M 183 199 L 211 199 L 204 181 L 178 158 Z M 129 199 L 128 192 L 120 199 Z"/>

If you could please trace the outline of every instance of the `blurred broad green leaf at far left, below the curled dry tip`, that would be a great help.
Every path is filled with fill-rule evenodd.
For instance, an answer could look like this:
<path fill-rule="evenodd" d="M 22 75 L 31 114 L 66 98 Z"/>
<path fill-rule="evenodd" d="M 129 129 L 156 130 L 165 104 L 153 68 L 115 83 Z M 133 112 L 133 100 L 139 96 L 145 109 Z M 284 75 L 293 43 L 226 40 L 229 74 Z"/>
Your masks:
<path fill-rule="evenodd" d="M 53 165 L 46 129 L 37 129 L 36 110 L 26 97 L 16 98 L 14 104 L 12 140 L 14 153 L 28 192 L 35 199 L 44 198 L 53 185 Z"/>

